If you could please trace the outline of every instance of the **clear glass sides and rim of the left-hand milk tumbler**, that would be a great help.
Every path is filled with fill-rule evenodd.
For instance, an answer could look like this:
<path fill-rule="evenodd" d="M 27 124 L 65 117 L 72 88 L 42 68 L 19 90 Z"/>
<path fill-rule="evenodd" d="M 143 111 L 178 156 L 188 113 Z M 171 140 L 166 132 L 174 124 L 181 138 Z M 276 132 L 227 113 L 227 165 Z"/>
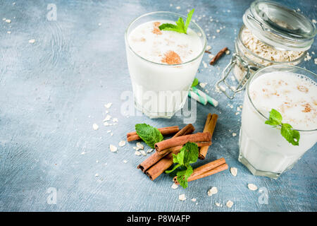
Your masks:
<path fill-rule="evenodd" d="M 189 88 L 206 49 L 206 35 L 197 23 L 191 21 L 189 28 L 199 35 L 201 52 L 190 61 L 173 65 L 158 64 L 140 57 L 130 47 L 128 37 L 142 23 L 156 20 L 176 21 L 180 17 L 186 20 L 185 16 L 178 13 L 147 13 L 133 20 L 125 31 L 125 49 L 135 107 L 150 118 L 170 118 L 185 105 Z"/>

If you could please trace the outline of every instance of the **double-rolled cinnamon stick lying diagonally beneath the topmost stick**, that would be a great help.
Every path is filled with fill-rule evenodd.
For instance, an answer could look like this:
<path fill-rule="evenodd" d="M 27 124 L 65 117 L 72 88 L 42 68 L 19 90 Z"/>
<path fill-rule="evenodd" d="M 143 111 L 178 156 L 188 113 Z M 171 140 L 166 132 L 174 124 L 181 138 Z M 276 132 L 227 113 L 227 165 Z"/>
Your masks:
<path fill-rule="evenodd" d="M 188 124 L 178 133 L 176 133 L 173 137 L 183 136 L 192 132 L 194 132 L 194 126 L 192 124 Z M 177 154 L 180 151 L 180 148 L 179 150 L 172 150 L 172 153 Z M 155 152 L 146 160 L 141 162 L 141 164 L 139 164 L 137 168 L 141 169 L 142 172 L 145 172 L 151 180 L 154 180 L 157 177 L 159 177 L 159 175 L 161 175 L 171 165 L 173 165 L 172 153 L 166 153 L 166 155 L 159 155 Z"/>

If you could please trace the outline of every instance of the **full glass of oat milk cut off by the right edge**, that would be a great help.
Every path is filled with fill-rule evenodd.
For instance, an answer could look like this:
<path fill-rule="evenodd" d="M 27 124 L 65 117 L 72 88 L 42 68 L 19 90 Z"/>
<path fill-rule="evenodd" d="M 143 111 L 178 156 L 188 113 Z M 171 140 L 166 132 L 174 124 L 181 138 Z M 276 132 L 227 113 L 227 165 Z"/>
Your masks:
<path fill-rule="evenodd" d="M 282 123 L 299 131 L 299 145 L 281 135 L 281 126 L 265 124 L 271 109 Z M 254 175 L 277 179 L 317 141 L 317 76 L 297 66 L 268 66 L 247 84 L 240 129 L 242 162 Z"/>

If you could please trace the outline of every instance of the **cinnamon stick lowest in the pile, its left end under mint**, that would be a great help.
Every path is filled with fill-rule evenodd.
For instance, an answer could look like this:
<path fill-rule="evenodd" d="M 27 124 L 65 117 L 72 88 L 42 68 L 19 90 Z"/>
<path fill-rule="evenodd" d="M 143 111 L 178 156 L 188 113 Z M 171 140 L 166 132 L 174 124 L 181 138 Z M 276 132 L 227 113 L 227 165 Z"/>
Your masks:
<path fill-rule="evenodd" d="M 209 162 L 205 165 L 202 165 L 201 167 L 194 169 L 194 172 L 192 173 L 192 175 L 188 177 L 187 182 L 192 182 L 197 179 L 208 177 L 212 174 L 216 174 L 225 169 L 228 169 L 228 165 L 225 163 L 225 159 L 222 157 L 218 160 Z M 174 177 L 173 181 L 175 182 L 175 184 L 179 184 L 178 177 Z"/>

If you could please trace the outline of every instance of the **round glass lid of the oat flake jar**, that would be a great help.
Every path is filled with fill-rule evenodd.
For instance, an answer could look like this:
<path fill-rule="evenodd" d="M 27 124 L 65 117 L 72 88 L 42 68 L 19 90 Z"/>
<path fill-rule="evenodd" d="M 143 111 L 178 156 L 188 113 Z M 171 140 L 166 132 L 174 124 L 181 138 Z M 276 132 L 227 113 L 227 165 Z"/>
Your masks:
<path fill-rule="evenodd" d="M 275 1 L 252 2 L 243 23 L 259 40 L 280 50 L 305 51 L 317 32 L 311 20 Z"/>

